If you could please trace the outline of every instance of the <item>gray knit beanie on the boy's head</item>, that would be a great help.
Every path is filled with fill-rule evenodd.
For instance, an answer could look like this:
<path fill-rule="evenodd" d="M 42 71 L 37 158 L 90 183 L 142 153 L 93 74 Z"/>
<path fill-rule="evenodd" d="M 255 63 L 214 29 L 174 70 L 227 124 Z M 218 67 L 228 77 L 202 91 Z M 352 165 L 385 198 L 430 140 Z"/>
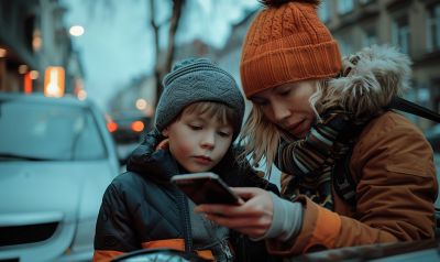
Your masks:
<path fill-rule="evenodd" d="M 221 102 L 238 117 L 233 139 L 240 132 L 244 99 L 234 78 L 207 58 L 188 58 L 176 63 L 163 80 L 155 127 L 164 130 L 187 106 L 199 101 Z"/>

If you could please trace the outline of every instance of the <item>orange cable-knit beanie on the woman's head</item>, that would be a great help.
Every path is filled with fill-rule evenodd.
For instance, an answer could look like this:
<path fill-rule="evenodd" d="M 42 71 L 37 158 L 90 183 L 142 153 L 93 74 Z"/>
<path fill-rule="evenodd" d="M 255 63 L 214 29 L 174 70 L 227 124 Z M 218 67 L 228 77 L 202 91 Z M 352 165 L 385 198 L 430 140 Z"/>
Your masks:
<path fill-rule="evenodd" d="M 319 20 L 320 1 L 262 0 L 266 6 L 252 22 L 243 44 L 240 76 L 252 95 L 298 80 L 338 75 L 338 44 Z"/>

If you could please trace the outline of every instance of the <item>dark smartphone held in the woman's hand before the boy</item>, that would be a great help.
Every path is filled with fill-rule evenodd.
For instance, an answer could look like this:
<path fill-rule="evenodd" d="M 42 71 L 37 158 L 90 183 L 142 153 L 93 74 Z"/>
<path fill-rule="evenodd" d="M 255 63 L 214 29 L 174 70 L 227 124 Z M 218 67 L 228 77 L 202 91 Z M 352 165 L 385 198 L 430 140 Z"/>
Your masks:
<path fill-rule="evenodd" d="M 244 203 L 220 176 L 211 172 L 175 175 L 172 177 L 172 183 L 180 188 L 196 205 L 241 205 Z"/>

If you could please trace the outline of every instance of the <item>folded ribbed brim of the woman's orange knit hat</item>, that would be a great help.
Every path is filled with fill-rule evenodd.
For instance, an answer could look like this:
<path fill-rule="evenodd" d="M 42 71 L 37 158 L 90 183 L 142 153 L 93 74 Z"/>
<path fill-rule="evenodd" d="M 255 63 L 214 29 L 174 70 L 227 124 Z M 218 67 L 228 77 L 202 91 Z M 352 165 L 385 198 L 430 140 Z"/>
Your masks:
<path fill-rule="evenodd" d="M 274 50 L 241 62 L 240 76 L 248 98 L 286 83 L 333 77 L 342 68 L 336 41 Z"/>

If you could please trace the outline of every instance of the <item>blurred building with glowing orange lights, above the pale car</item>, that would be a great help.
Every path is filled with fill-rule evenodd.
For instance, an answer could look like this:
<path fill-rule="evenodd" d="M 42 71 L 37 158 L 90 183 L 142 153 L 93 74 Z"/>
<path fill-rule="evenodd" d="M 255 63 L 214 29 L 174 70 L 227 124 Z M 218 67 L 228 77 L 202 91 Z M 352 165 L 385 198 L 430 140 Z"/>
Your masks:
<path fill-rule="evenodd" d="M 45 70 L 64 69 L 64 92 L 82 88 L 84 70 L 58 0 L 0 0 L 0 91 L 43 92 Z"/>

